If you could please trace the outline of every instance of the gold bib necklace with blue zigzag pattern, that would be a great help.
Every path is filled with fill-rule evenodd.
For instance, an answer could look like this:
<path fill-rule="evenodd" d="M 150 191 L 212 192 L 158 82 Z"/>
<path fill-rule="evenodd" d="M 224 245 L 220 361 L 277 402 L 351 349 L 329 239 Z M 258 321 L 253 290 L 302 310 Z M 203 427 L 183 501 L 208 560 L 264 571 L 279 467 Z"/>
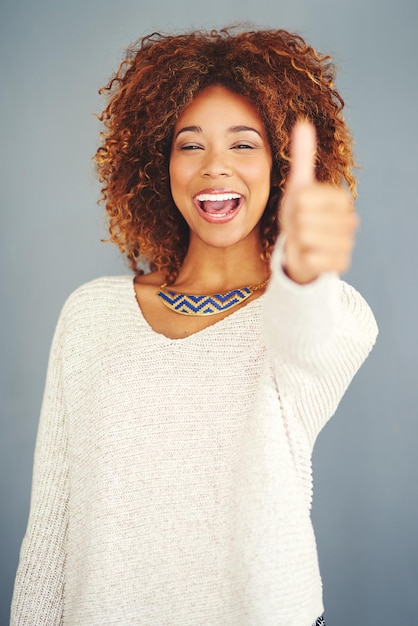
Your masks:
<path fill-rule="evenodd" d="M 214 293 L 210 296 L 197 296 L 194 294 L 178 293 L 167 288 L 167 283 L 161 285 L 157 296 L 172 311 L 181 315 L 206 316 L 216 315 L 236 307 L 247 300 L 259 289 L 265 287 L 269 278 L 259 285 L 251 287 L 238 287 L 226 293 Z"/>

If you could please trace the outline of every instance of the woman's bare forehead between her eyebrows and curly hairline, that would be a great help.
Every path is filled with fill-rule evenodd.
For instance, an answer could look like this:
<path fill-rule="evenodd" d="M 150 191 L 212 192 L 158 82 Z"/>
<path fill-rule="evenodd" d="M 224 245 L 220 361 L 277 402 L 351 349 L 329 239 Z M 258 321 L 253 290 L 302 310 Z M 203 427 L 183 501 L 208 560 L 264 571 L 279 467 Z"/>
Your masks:
<path fill-rule="evenodd" d="M 176 128 L 186 122 L 198 121 L 198 118 L 200 122 L 206 120 L 219 125 L 251 121 L 253 125 L 264 129 L 256 107 L 244 96 L 220 85 L 212 85 L 200 91 L 180 114 Z"/>

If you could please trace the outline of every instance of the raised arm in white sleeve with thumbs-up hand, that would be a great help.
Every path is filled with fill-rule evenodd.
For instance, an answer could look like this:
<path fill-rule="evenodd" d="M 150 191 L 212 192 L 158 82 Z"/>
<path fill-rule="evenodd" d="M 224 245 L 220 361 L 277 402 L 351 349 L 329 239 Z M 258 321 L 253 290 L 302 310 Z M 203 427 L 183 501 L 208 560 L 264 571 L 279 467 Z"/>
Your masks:
<path fill-rule="evenodd" d="M 377 326 L 367 303 L 341 281 L 357 217 L 347 190 L 315 180 L 315 131 L 298 124 L 292 171 L 280 208 L 263 330 L 288 415 L 313 445 L 371 350 Z"/>

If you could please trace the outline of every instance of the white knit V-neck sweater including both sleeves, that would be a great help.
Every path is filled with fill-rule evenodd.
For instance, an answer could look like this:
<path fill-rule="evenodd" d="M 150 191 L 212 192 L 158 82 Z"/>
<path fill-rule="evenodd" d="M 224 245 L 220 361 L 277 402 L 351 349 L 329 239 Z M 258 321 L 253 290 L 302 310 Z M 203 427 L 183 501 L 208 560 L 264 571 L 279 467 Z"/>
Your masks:
<path fill-rule="evenodd" d="M 132 277 L 67 301 L 37 439 L 13 626 L 311 626 L 311 452 L 376 336 L 333 275 L 184 339 Z"/>

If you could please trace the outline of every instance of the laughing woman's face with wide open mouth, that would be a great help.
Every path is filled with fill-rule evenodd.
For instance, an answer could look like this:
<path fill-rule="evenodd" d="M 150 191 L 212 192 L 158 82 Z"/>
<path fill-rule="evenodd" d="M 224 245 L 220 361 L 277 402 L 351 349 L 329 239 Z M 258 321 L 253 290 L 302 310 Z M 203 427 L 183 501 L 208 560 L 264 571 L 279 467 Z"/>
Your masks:
<path fill-rule="evenodd" d="M 171 193 L 191 242 L 224 248 L 258 240 L 271 168 L 255 107 L 224 87 L 201 91 L 175 126 L 170 156 Z"/>

